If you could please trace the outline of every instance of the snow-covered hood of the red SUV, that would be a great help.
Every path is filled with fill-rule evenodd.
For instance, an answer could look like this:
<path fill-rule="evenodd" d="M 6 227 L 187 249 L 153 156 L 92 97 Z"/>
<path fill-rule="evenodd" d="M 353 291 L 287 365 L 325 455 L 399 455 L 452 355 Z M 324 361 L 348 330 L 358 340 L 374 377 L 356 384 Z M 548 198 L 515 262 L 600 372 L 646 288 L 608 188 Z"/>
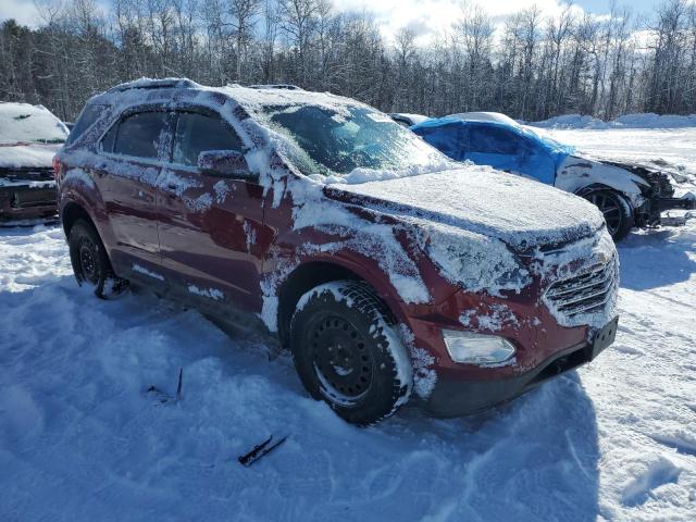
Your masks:
<path fill-rule="evenodd" d="M 326 196 L 406 219 L 456 226 L 515 250 L 573 241 L 604 217 L 582 198 L 489 167 L 468 165 L 431 174 L 324 188 Z"/>

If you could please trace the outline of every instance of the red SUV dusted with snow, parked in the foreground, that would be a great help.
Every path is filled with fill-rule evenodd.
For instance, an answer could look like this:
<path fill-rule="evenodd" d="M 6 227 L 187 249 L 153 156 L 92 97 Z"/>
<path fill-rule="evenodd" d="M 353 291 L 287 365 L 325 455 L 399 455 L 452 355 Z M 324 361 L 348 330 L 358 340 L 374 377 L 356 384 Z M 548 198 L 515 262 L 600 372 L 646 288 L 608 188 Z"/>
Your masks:
<path fill-rule="evenodd" d="M 362 425 L 409 399 L 488 408 L 611 344 L 619 263 L 594 206 L 282 87 L 141 79 L 89 100 L 55 163 L 78 282 L 258 323 Z"/>

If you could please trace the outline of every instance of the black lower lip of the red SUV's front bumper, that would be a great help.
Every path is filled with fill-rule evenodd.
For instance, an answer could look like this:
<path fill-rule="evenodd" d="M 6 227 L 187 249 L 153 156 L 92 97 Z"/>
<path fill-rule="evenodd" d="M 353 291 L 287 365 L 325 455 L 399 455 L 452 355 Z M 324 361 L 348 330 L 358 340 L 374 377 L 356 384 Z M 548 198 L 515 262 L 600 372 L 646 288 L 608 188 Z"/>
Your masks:
<path fill-rule="evenodd" d="M 435 417 L 461 417 L 507 402 L 535 386 L 581 366 L 613 343 L 618 318 L 600 330 L 592 343 L 580 343 L 554 353 L 536 368 L 506 378 L 461 381 L 439 378 L 425 409 Z"/>

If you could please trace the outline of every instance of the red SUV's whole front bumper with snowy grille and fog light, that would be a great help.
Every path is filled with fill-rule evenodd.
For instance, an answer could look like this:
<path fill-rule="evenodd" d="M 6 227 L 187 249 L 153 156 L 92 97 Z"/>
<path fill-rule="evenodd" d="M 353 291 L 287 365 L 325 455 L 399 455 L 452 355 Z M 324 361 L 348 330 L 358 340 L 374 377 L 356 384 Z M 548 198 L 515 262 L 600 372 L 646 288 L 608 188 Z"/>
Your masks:
<path fill-rule="evenodd" d="M 419 378 L 433 382 L 419 394 L 433 414 L 462 415 L 509 400 L 613 341 L 619 260 L 606 231 L 520 258 L 531 277 L 521 291 L 461 288 L 409 318 L 414 346 L 433 359 L 415 373 L 417 391 L 424 388 Z"/>

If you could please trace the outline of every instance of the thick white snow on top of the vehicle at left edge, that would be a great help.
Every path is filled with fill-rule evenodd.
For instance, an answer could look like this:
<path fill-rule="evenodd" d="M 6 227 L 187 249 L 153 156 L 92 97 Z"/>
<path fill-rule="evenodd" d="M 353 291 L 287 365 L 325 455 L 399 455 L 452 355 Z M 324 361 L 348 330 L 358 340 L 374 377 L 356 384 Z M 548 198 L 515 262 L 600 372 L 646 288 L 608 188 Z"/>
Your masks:
<path fill-rule="evenodd" d="M 67 127 L 44 105 L 0 102 L 0 144 L 62 142 Z"/>

